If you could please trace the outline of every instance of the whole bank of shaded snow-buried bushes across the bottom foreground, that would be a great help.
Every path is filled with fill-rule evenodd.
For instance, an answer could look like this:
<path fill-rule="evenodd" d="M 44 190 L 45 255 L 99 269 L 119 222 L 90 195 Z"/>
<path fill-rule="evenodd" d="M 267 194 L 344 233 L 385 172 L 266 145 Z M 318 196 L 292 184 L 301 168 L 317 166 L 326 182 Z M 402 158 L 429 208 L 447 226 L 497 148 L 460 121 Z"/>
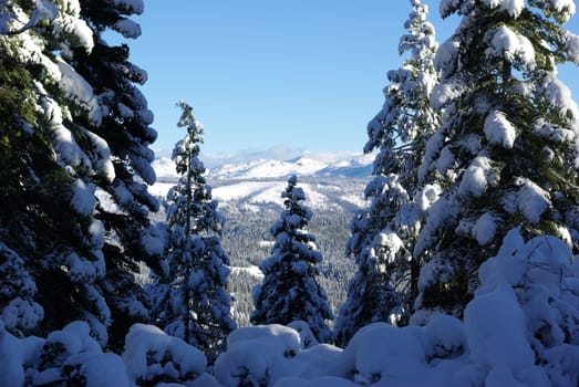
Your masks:
<path fill-rule="evenodd" d="M 17 338 L 0 321 L 0 375 L 15 386 L 27 377 L 50 384 L 66 369 L 87 386 L 156 378 L 208 387 L 576 386 L 579 348 L 566 332 L 578 330 L 579 263 L 567 243 L 549 236 L 525 243 L 513 229 L 478 274 L 464 321 L 437 314 L 424 326 L 374 323 L 343 349 L 312 341 L 303 322 L 241 327 L 229 334 L 211 369 L 197 348 L 151 325 L 133 325 L 121 357 L 103 353 L 84 322 L 44 339 Z M 62 347 L 62 355 L 40 368 L 51 345 Z"/>

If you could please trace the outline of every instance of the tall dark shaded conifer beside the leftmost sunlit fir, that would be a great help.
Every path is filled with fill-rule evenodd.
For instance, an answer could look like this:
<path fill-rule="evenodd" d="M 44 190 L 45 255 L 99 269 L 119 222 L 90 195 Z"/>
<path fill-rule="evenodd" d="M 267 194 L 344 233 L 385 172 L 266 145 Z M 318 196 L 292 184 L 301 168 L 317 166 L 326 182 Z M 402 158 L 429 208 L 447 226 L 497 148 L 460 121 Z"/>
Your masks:
<path fill-rule="evenodd" d="M 113 317 L 108 346 L 122 349 L 130 326 L 148 321 L 144 292 L 134 278 L 137 262 L 144 261 L 154 271 L 161 269 L 163 242 L 148 219 L 149 211 L 158 210 L 158 200 L 146 188 L 155 181 L 151 167 L 154 154 L 148 146 L 157 133 L 149 127 L 153 114 L 137 88 L 146 82 L 146 72 L 128 61 L 126 44 L 111 46 L 103 35 L 116 31 L 136 39 L 141 28 L 130 17 L 141 14 L 144 6 L 142 0 L 80 0 L 80 4 L 81 17 L 92 29 L 94 48 L 68 54 L 71 65 L 91 84 L 103 117 L 100 126 L 89 125 L 82 115 L 75 115 L 74 122 L 99 138 L 83 142 L 89 155 L 104 151 L 112 156 L 113 174 L 94 179 L 103 199 L 95 217 L 104 223 L 106 236 L 106 275 L 101 283 Z"/>

